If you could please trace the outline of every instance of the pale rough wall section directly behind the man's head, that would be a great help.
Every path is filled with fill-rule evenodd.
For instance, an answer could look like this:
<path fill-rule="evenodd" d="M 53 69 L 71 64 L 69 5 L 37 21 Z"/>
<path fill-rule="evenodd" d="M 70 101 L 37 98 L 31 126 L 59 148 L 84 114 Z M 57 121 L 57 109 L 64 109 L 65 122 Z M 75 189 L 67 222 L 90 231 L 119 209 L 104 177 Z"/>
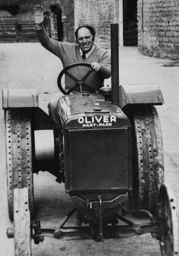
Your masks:
<path fill-rule="evenodd" d="M 95 44 L 110 48 L 110 24 L 118 22 L 119 0 L 74 0 L 75 30 L 84 24 L 96 30 Z"/>

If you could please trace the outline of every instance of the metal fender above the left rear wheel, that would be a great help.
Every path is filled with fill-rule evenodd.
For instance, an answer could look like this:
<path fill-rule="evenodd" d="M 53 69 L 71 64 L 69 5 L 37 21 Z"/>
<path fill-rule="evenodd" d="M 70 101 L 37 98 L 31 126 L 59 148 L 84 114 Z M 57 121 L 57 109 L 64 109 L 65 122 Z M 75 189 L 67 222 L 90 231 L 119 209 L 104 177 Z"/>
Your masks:
<path fill-rule="evenodd" d="M 39 107 L 36 89 L 4 89 L 3 109 Z"/>

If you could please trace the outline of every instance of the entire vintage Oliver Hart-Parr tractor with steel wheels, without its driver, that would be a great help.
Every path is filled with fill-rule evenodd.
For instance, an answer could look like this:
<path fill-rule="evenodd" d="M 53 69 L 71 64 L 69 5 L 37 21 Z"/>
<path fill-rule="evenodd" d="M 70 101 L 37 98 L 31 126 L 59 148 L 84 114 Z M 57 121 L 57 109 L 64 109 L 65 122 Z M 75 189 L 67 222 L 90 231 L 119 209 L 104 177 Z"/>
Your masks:
<path fill-rule="evenodd" d="M 117 29 L 116 29 L 117 28 Z M 178 221 L 171 189 L 164 183 L 162 135 L 156 108 L 163 98 L 156 84 L 120 85 L 118 27 L 111 25 L 112 91 L 94 93 L 90 64 L 73 64 L 58 77 L 59 124 L 38 107 L 35 89 L 3 90 L 9 217 L 15 256 L 31 255 L 31 240 L 124 238 L 151 233 L 161 254 L 178 255 Z M 85 66 L 81 80 L 70 70 Z M 63 74 L 75 81 L 66 92 Z M 70 94 L 80 88 L 79 93 Z M 91 88 L 92 90 L 93 88 Z M 48 171 L 74 203 L 57 229 L 33 220 L 33 173 Z M 64 226 L 77 212 L 76 226 Z M 133 216 L 133 218 L 130 218 Z M 145 221 L 132 219 L 145 216 Z M 147 218 L 147 222 L 146 222 Z"/>

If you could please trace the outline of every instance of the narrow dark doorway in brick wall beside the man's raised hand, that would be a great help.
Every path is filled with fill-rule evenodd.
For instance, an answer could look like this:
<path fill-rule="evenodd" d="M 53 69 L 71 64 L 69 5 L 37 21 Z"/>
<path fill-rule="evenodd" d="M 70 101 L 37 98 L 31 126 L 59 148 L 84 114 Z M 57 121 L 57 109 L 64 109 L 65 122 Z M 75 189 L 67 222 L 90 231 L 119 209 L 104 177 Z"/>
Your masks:
<path fill-rule="evenodd" d="M 54 26 L 57 30 L 58 41 L 63 41 L 63 22 L 62 22 L 62 10 L 57 4 L 50 5 L 51 12 L 56 15 L 56 21 L 54 21 Z"/>

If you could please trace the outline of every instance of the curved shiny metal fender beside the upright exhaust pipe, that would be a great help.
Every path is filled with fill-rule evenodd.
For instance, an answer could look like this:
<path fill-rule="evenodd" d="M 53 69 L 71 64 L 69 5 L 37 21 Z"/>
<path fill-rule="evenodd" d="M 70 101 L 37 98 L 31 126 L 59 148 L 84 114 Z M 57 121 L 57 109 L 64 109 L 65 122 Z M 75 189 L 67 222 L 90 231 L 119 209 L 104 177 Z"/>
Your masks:
<path fill-rule="evenodd" d="M 157 84 L 129 84 L 119 86 L 119 103 L 123 109 L 128 104 L 162 105 L 164 101 Z"/>

